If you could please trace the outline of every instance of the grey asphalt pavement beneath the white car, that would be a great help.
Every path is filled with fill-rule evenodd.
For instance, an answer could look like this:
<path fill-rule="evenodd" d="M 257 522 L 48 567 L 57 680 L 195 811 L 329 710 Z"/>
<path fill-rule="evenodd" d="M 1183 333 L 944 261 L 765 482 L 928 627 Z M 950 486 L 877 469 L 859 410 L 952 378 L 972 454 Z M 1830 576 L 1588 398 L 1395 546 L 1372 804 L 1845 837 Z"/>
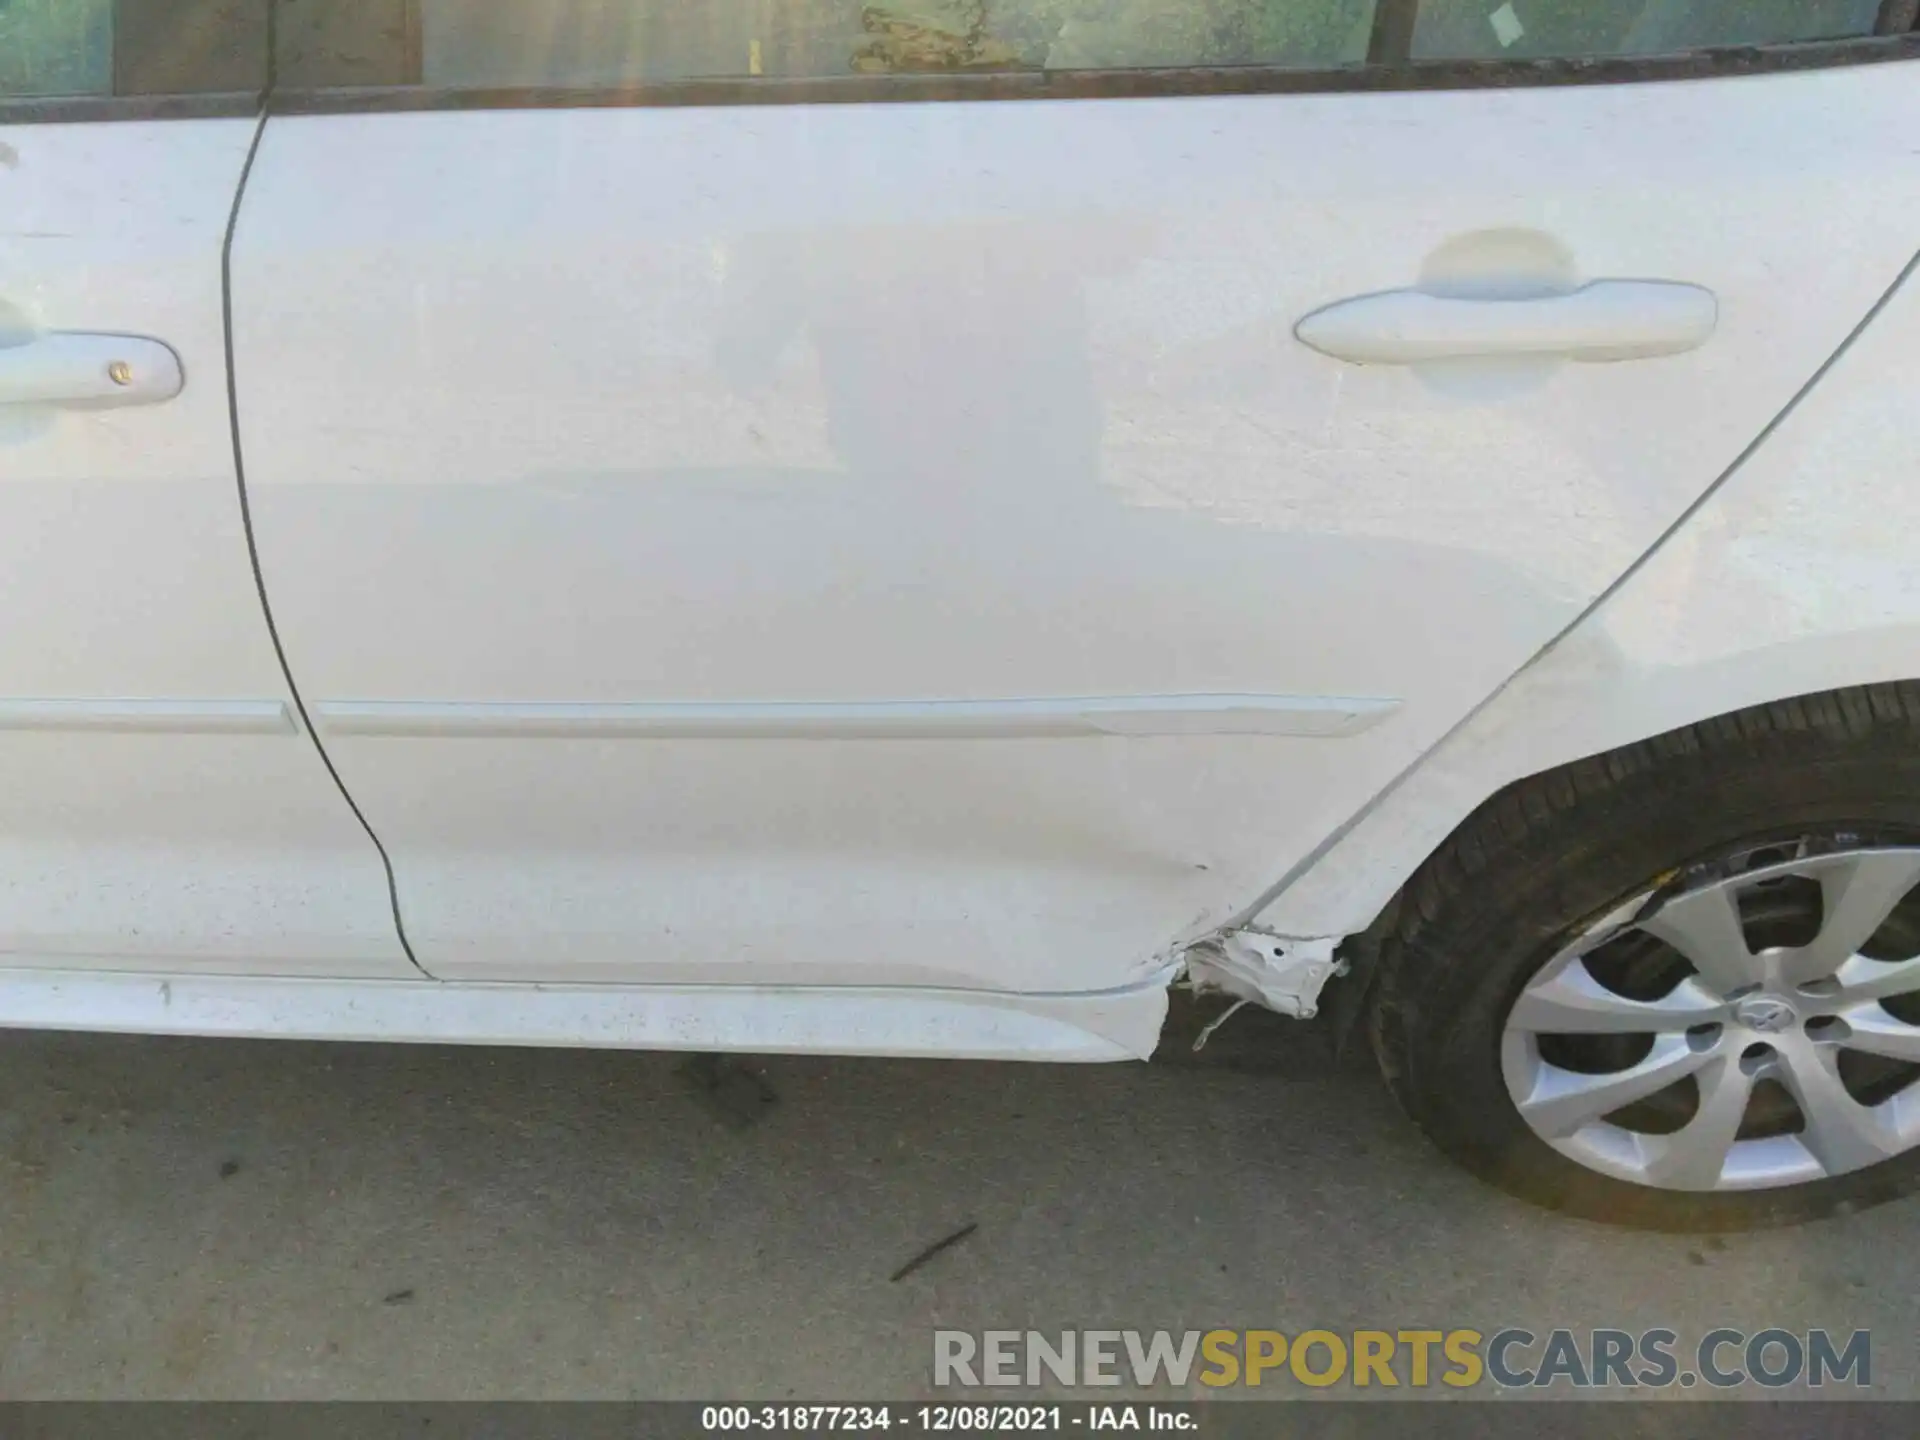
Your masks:
<path fill-rule="evenodd" d="M 4 1035 L 0 1396 L 920 1398 L 935 1329 L 1509 1325 L 1868 1329 L 1876 1392 L 1920 1394 L 1920 1202 L 1724 1240 L 1567 1221 L 1455 1171 L 1319 1033 L 1215 1044 Z"/>

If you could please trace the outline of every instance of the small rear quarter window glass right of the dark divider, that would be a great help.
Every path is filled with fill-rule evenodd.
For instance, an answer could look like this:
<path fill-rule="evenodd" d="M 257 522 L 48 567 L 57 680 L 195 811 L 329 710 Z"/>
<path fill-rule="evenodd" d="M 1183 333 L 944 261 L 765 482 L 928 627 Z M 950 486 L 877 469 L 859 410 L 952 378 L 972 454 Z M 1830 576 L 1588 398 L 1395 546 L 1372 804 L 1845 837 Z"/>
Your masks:
<path fill-rule="evenodd" d="M 1425 0 L 1415 60 L 1657 56 L 1872 35 L 1880 0 Z"/>

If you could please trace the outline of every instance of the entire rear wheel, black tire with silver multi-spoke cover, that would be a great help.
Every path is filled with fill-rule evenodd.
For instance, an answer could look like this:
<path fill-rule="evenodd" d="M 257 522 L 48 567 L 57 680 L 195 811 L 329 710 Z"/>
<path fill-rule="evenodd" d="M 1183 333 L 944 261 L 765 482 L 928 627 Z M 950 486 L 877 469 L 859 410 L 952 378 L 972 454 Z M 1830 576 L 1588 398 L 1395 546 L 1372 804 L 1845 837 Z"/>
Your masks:
<path fill-rule="evenodd" d="M 1580 1215 L 1734 1229 L 1920 1183 L 1920 687 L 1509 787 L 1409 881 L 1373 1039 L 1444 1150 Z"/>

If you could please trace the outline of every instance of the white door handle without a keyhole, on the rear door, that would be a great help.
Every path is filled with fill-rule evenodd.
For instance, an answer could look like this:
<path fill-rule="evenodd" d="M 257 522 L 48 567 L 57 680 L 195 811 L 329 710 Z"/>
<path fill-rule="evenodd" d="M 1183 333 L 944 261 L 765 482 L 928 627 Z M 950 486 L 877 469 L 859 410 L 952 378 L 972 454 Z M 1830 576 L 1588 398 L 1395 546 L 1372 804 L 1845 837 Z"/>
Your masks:
<path fill-rule="evenodd" d="M 1672 280 L 1594 280 L 1526 300 L 1388 290 L 1308 315 L 1294 334 L 1354 365 L 1450 359 L 1628 361 L 1707 344 L 1720 319 L 1711 290 Z"/>

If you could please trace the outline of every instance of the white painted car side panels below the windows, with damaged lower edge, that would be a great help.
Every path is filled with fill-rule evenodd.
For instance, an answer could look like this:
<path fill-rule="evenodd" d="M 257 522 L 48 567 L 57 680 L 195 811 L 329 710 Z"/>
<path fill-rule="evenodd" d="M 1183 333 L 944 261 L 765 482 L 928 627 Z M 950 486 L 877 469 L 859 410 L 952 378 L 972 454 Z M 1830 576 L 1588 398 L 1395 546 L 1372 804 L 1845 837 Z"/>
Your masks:
<path fill-rule="evenodd" d="M 0 1025 L 1140 1058 L 1190 947 L 1332 956 L 1511 780 L 1920 678 L 1880 44 L 0 106 L 0 338 L 184 372 L 0 405 Z"/>

